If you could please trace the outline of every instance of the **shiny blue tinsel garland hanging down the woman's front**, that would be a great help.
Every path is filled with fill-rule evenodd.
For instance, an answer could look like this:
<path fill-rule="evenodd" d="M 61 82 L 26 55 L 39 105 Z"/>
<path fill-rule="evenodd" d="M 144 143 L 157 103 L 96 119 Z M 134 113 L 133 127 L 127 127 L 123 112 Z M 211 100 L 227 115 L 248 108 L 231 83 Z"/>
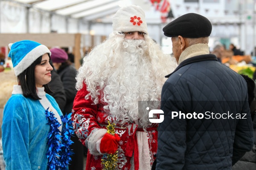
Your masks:
<path fill-rule="evenodd" d="M 70 140 L 71 135 L 74 133 L 71 114 L 61 116 L 62 133 L 58 127 L 61 124 L 58 122 L 57 118 L 54 116 L 52 111 L 45 110 L 45 116 L 48 120 L 47 125 L 50 125 L 50 132 L 48 133 L 48 146 L 49 149 L 46 153 L 48 161 L 49 170 L 68 170 L 68 164 L 71 161 L 70 156 L 73 152 L 70 149 L 70 144 L 73 142 Z"/>

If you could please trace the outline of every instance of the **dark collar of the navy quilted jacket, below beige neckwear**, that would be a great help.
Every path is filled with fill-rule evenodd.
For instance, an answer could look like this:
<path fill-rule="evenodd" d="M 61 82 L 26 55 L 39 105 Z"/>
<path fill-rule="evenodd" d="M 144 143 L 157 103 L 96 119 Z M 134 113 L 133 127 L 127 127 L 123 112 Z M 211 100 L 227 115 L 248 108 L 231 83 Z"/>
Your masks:
<path fill-rule="evenodd" d="M 214 54 L 205 54 L 205 55 L 199 55 L 199 56 L 195 56 L 195 57 L 191 57 L 189 59 L 185 59 L 183 62 L 181 62 L 178 67 L 175 69 L 175 71 L 177 71 L 178 69 L 180 69 L 181 67 L 191 64 L 193 62 L 200 62 L 200 61 L 208 61 L 208 60 L 212 60 L 212 61 L 218 61 L 217 57 Z M 165 76 L 166 78 L 170 77 L 175 71 L 173 71 L 171 74 L 168 74 L 167 76 Z"/>

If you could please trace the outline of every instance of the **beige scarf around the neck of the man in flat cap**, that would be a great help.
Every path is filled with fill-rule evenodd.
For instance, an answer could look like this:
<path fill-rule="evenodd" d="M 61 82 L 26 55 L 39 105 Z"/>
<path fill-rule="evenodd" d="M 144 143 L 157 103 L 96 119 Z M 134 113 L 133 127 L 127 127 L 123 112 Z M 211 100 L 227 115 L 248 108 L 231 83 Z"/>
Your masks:
<path fill-rule="evenodd" d="M 210 54 L 209 52 L 209 47 L 207 44 L 195 44 L 191 45 L 188 48 L 186 48 L 181 54 L 179 58 L 178 64 L 183 62 L 185 59 L 199 56 L 199 55 L 204 55 L 204 54 Z"/>

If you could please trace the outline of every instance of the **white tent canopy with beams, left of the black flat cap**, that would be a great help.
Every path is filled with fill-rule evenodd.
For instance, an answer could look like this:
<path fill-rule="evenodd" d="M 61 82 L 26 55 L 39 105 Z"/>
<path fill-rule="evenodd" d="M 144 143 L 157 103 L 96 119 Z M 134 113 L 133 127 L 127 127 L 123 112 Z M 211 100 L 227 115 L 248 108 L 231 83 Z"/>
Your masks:
<path fill-rule="evenodd" d="M 163 28 L 160 12 L 148 0 L 0 0 L 0 33 L 108 36 L 112 32 L 113 14 L 127 4 L 145 10 L 148 32 L 160 42 Z"/>

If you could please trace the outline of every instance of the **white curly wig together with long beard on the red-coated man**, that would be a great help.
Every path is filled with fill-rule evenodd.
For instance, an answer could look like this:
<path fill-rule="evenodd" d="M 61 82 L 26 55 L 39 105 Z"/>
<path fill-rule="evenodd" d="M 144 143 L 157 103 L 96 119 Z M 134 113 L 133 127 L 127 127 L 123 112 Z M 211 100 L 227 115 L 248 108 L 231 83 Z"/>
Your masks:
<path fill-rule="evenodd" d="M 80 90 L 85 83 L 89 92 L 85 99 L 91 97 L 95 104 L 101 99 L 107 103 L 105 111 L 122 123 L 137 122 L 146 127 L 151 125 L 148 112 L 138 114 L 138 102 L 160 100 L 164 76 L 174 71 L 177 62 L 163 54 L 147 34 L 145 40 L 126 40 L 124 36 L 111 33 L 84 57 L 76 88 Z"/>

